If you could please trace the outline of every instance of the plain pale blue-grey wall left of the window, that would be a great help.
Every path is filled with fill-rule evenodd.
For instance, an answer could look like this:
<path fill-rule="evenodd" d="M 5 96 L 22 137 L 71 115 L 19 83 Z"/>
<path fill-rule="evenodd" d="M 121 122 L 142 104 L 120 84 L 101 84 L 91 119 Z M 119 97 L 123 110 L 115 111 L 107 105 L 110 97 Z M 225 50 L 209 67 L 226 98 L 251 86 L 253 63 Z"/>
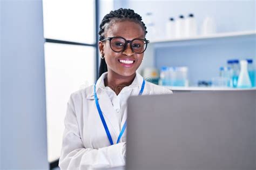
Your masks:
<path fill-rule="evenodd" d="M 0 11 L 0 169 L 49 169 L 42 0 L 2 0 Z"/>

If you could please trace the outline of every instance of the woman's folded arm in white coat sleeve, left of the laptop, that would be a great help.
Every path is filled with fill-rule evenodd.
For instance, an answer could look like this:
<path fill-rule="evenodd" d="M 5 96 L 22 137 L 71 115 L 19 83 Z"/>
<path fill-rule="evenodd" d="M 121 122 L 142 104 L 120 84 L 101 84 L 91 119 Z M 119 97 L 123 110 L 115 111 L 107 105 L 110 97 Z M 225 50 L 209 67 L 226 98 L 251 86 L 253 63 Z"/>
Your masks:
<path fill-rule="evenodd" d="M 65 116 L 60 169 L 109 168 L 125 165 L 126 143 L 99 149 L 85 148 L 80 137 L 72 96 Z"/>

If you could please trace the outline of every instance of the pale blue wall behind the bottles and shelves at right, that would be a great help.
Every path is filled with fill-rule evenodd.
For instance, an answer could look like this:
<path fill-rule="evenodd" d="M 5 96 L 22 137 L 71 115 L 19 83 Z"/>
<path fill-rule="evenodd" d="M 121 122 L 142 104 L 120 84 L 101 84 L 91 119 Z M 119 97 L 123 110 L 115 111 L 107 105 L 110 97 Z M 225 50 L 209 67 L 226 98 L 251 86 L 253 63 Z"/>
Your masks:
<path fill-rule="evenodd" d="M 188 13 L 194 13 L 199 33 L 206 16 L 215 18 L 217 33 L 256 29 L 255 0 L 124 0 L 122 3 L 115 2 L 114 6 L 133 9 L 142 16 L 143 21 L 146 20 L 146 13 L 152 12 L 157 31 L 156 39 L 165 38 L 166 22 L 170 17 L 177 18 L 180 14 L 187 16 Z M 139 71 L 149 66 L 159 70 L 162 66 L 187 66 L 190 85 L 197 85 L 198 80 L 217 77 L 219 67 L 226 66 L 227 59 L 252 58 L 255 63 L 255 47 L 254 37 L 219 42 L 205 40 L 200 43 L 177 43 L 172 46 L 168 43 L 158 46 L 150 43 Z"/>

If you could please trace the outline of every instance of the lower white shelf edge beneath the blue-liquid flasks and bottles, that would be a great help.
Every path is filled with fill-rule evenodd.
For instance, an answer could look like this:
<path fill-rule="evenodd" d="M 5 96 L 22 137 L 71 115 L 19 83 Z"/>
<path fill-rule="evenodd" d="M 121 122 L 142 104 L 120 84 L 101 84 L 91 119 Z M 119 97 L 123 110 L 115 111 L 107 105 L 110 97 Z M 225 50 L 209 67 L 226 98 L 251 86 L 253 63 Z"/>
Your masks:
<path fill-rule="evenodd" d="M 239 90 L 256 90 L 256 87 L 248 89 L 230 88 L 230 87 L 179 87 L 179 86 L 163 86 L 172 91 L 239 91 Z"/>

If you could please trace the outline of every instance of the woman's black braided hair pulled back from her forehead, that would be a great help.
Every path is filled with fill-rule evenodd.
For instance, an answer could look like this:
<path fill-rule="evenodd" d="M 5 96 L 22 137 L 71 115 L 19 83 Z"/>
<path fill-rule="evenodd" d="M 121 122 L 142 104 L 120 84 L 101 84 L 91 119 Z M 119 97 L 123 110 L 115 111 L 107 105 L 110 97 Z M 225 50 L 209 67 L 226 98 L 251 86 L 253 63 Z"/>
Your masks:
<path fill-rule="evenodd" d="M 105 38 L 105 33 L 107 30 L 116 22 L 121 21 L 132 21 L 138 23 L 142 26 L 145 36 L 146 36 L 146 26 L 142 21 L 142 17 L 135 13 L 132 9 L 123 9 L 120 8 L 118 10 L 110 11 L 107 15 L 104 16 L 102 22 L 99 25 L 99 40 L 103 40 Z M 107 72 L 107 65 L 105 59 L 100 59 L 99 65 L 99 77 L 102 76 L 104 72 Z"/>

